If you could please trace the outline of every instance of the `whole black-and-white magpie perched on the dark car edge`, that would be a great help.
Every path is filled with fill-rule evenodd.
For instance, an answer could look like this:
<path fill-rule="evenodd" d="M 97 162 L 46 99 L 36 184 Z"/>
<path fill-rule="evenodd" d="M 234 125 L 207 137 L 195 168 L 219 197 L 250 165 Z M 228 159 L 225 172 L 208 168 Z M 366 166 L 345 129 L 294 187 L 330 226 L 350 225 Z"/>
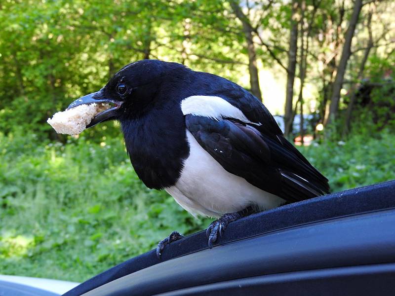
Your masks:
<path fill-rule="evenodd" d="M 255 96 L 223 77 L 178 63 L 124 66 L 69 108 L 108 103 L 87 127 L 115 119 L 140 180 L 194 216 L 218 218 L 211 248 L 230 222 L 329 192 L 328 180 L 289 143 Z M 174 231 L 157 247 L 181 238 Z"/>

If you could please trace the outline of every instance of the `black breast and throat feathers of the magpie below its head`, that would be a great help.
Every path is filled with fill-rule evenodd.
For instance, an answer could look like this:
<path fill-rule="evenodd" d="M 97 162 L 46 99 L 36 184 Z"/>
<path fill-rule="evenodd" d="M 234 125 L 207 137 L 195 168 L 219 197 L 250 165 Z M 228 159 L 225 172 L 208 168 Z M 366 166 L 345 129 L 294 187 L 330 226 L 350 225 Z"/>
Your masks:
<path fill-rule="evenodd" d="M 152 110 L 120 122 L 130 161 L 143 183 L 155 189 L 174 185 L 189 155 L 181 109 Z"/>

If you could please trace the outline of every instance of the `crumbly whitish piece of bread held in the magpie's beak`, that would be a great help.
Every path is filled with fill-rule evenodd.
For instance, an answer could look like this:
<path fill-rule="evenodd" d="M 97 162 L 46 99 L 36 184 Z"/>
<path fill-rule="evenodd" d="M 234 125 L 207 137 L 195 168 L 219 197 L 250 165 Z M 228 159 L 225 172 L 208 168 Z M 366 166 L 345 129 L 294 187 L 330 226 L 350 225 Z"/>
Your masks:
<path fill-rule="evenodd" d="M 108 104 L 79 105 L 53 114 L 48 122 L 58 134 L 78 135 L 92 121 L 92 118 L 101 111 L 110 108 Z"/>

